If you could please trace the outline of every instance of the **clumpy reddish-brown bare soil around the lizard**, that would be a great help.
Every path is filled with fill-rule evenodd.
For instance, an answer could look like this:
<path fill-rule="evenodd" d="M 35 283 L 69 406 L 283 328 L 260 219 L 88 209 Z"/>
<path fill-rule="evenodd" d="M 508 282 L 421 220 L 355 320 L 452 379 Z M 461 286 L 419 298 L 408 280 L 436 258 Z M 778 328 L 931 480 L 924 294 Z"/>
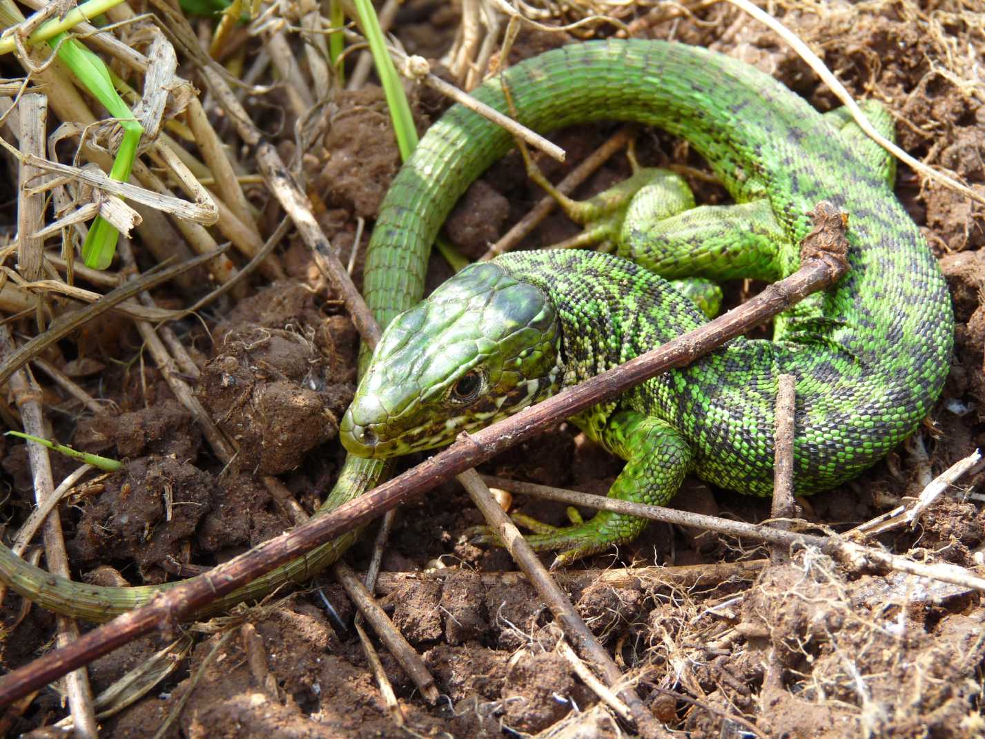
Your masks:
<path fill-rule="evenodd" d="M 796 10 L 783 4 L 772 9 L 821 53 L 857 99 L 886 103 L 904 150 L 985 194 L 985 12 L 980 7 L 974 13 L 973 3 L 957 0 L 919 8 L 902 2 L 791 7 Z M 635 35 L 710 46 L 776 76 L 821 110 L 838 104 L 793 51 L 730 5 L 655 24 L 639 17 Z M 411 0 L 394 28 L 409 52 L 436 57 L 450 44 L 457 24 L 450 6 Z M 601 25 L 594 33 L 612 34 L 614 28 Z M 567 34 L 524 32 L 513 52 L 519 59 L 572 40 Z M 272 95 L 276 101 L 277 93 Z M 246 101 L 258 115 L 270 102 Z M 424 94 L 415 110 L 419 128 L 424 130 L 445 105 Z M 328 133 L 321 147 L 306 155 L 304 171 L 321 226 L 345 260 L 357 218 L 370 222 L 361 234 L 364 250 L 399 157 L 377 88 L 340 93 L 326 114 Z M 285 124 L 279 134 L 284 156 L 293 151 L 292 130 Z M 554 139 L 567 151 L 569 164 L 544 161 L 542 166 L 557 180 L 614 130 L 599 125 L 561 131 Z M 686 146 L 659 132 L 641 131 L 637 154 L 646 165 L 702 168 Z M 577 195 L 627 173 L 624 156 L 617 155 Z M 699 176 L 689 179 L 701 202 L 726 197 Z M 806 502 L 815 531 L 842 531 L 873 518 L 985 446 L 983 209 L 902 165 L 896 192 L 927 236 L 952 290 L 957 322 L 952 371 L 943 398 L 915 437 L 859 478 Z M 540 198 L 519 157 L 510 155 L 470 189 L 446 233 L 476 258 Z M 280 211 L 266 209 L 261 231 L 271 233 L 280 217 Z M 552 243 L 576 231 L 555 215 L 527 245 Z M 140 338 L 128 320 L 99 319 L 49 352 L 49 362 L 108 401 L 106 411 L 94 415 L 52 387 L 46 402 L 59 409 L 52 414 L 55 436 L 126 460 L 120 472 L 62 508 L 70 559 L 81 579 L 164 582 L 224 562 L 290 528 L 283 505 L 260 484 L 262 475 L 278 476 L 309 512 L 331 488 L 344 459 L 336 437 L 355 389 L 358 335 L 309 252 L 295 240 L 281 256 L 287 279 L 270 284 L 258 277 L 247 297 L 210 309 L 207 325 L 188 319 L 175 327 L 201 370 L 198 398 L 240 443 L 241 453 L 229 468 L 212 454 L 159 370 L 142 361 Z M 443 261 L 432 259 L 431 286 L 449 274 Z M 361 257 L 356 276 L 359 284 Z M 184 300 L 169 290 L 156 294 L 160 303 Z M 751 291 L 755 286 L 728 286 L 727 297 L 734 303 Z M 22 443 L 0 437 L 0 455 L 10 533 L 30 512 L 32 477 Z M 56 481 L 74 468 L 58 456 L 52 462 Z M 483 471 L 604 494 L 620 465 L 562 424 L 500 455 Z M 981 573 L 985 514 L 975 491 L 983 479 L 979 465 L 918 525 L 894 529 L 874 543 L 917 561 L 949 562 Z M 171 502 L 166 510 L 163 488 Z M 565 522 L 560 504 L 522 497 L 515 504 L 548 522 Z M 697 480 L 689 480 L 673 506 L 750 522 L 769 516 L 768 501 Z M 537 592 L 502 574 L 516 570 L 508 555 L 468 542 L 464 532 L 481 521 L 457 484 L 402 508 L 397 518 L 383 570 L 434 574 L 384 577 L 381 602 L 423 655 L 441 694 L 428 705 L 380 647 L 406 729 L 395 726 L 367 666 L 352 628 L 354 607 L 326 574 L 312 589 L 280 593 L 254 609 L 190 629 L 196 642 L 189 658 L 148 696 L 105 718 L 101 735 L 152 737 L 175 711 L 168 737 L 624 735 L 627 727 L 599 704 L 558 652 L 558 629 Z M 348 562 L 364 570 L 369 551 L 362 541 Z M 977 592 L 865 564 L 847 568 L 816 551 L 799 551 L 787 563 L 725 579 L 711 574 L 716 563 L 768 556 L 750 543 L 654 523 L 618 553 L 572 568 L 572 574 L 639 568 L 634 576 L 560 581 L 668 734 L 985 735 L 985 605 Z M 659 571 L 645 569 L 652 565 L 706 565 L 709 575 L 687 586 L 668 585 Z M 326 611 L 326 600 L 337 617 Z M 2 615 L 4 670 L 25 664 L 50 644 L 52 615 L 39 608 L 26 611 L 16 596 L 6 598 Z M 145 638 L 99 659 L 92 666 L 94 689 L 103 690 L 164 643 Z M 63 715 L 59 696 L 46 690 L 19 715 L 8 714 L 5 728 L 12 736 L 60 736 L 43 727 Z"/>

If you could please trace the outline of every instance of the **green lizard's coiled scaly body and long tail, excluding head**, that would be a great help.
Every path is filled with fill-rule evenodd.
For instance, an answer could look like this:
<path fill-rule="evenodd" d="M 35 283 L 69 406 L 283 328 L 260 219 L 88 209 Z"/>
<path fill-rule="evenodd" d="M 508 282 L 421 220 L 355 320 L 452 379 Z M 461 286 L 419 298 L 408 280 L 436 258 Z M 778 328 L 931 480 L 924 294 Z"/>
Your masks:
<path fill-rule="evenodd" d="M 737 342 L 694 368 L 649 383 L 625 407 L 601 409 L 594 421 L 583 419 L 586 427 L 594 423 L 601 429 L 603 421 L 618 417 L 607 442 L 621 453 L 643 443 L 640 439 L 670 434 L 662 453 L 675 468 L 687 466 L 750 493 L 768 492 L 779 371 L 798 376 L 801 488 L 843 479 L 913 430 L 948 372 L 950 299 L 933 256 L 885 177 L 839 138 L 829 121 L 741 62 L 659 41 L 574 44 L 529 59 L 505 78 L 526 125 L 551 130 L 621 119 L 660 126 L 688 139 L 744 204 L 729 212 L 698 208 L 678 222 L 657 225 L 658 230 L 673 227 L 673 249 L 635 254 L 635 246 L 624 247 L 626 256 L 664 276 L 789 274 L 797 267 L 796 244 L 810 226 L 807 212 L 826 199 L 849 214 L 850 274 L 836 289 L 777 321 L 774 342 Z M 477 97 L 506 107 L 497 80 Z M 421 299 L 427 253 L 440 225 L 468 185 L 511 144 L 504 131 L 460 106 L 428 130 L 382 204 L 367 253 L 364 295 L 381 324 Z M 744 229 L 725 228 L 706 238 L 705 216 L 726 227 L 738 219 Z M 663 236 L 630 240 L 661 242 Z M 585 278 L 580 287 L 558 280 L 550 265 L 543 269 L 545 260 L 555 258 L 578 262 Z M 605 369 L 700 319 L 690 307 L 661 309 L 670 295 L 666 283 L 641 277 L 631 265 L 614 271 L 612 261 L 601 255 L 517 255 L 493 267 L 558 301 L 562 332 L 583 332 L 566 350 L 570 360 L 563 381 Z M 606 301 L 586 292 L 595 289 L 607 294 Z M 603 302 L 608 312 L 596 309 Z M 625 414 L 659 423 L 640 424 Z M 361 495 L 382 469 L 378 460 L 350 455 L 323 507 Z M 657 474 L 643 472 L 647 480 Z M 671 478 L 661 485 L 674 487 L 679 480 Z M 217 601 L 213 610 L 308 577 L 337 559 L 351 541 L 350 536 L 330 542 Z M 0 578 L 53 610 L 92 620 L 141 605 L 156 592 L 68 582 L 31 568 L 9 550 L 0 551 Z"/>

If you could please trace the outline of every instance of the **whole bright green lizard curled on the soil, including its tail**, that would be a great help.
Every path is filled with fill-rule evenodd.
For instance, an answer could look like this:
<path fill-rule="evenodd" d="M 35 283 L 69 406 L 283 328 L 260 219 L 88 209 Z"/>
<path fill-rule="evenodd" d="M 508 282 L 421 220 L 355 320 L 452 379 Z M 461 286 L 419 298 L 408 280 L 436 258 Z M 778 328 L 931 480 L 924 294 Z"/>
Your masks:
<path fill-rule="evenodd" d="M 647 242 L 651 227 L 624 222 L 638 226 L 643 237 L 624 239 L 623 253 L 665 276 L 789 274 L 797 267 L 795 246 L 808 231 L 808 211 L 826 199 L 850 216 L 849 275 L 777 320 L 773 342 L 733 342 L 693 368 L 653 380 L 617 406 L 579 419 L 590 435 L 630 458 L 614 494 L 664 500 L 691 469 L 725 487 L 767 493 L 772 394 L 780 370 L 798 376 L 798 492 L 854 474 L 915 428 L 948 372 L 950 299 L 926 243 L 886 185 L 886 159 L 858 137 L 849 146 L 854 134 L 839 136 L 837 116 L 821 116 L 741 62 L 660 41 L 565 46 L 504 77 L 519 120 L 535 129 L 634 120 L 679 134 L 704 155 L 739 205 L 665 213 L 652 225 L 663 246 L 642 254 L 634 250 Z M 506 108 L 497 79 L 476 97 Z M 458 105 L 428 130 L 387 193 L 367 252 L 364 295 L 381 325 L 420 300 L 427 252 L 448 211 L 511 142 L 509 134 Z M 438 310 L 455 295 L 469 297 L 464 305 Z M 466 309 L 472 319 L 454 321 Z M 493 325 L 506 317 L 526 328 Z M 470 267 L 387 332 L 347 414 L 344 442 L 361 454 L 389 455 L 451 440 L 701 319 L 663 280 L 615 256 L 517 254 Z M 426 344 L 445 351 L 424 346 L 418 360 L 407 357 L 402 350 L 413 337 L 401 337 L 414 325 L 426 332 Z M 473 350 L 461 349 L 467 341 L 453 340 L 459 329 L 472 332 Z M 533 347 L 519 348 L 521 336 Z M 434 360 L 431 369 L 425 358 Z M 412 387 L 412 371 L 420 387 Z M 436 415 L 426 417 L 431 412 Z M 400 436 L 409 429 L 416 431 Z M 647 454 L 636 454 L 638 448 Z M 350 455 L 322 509 L 361 495 L 383 469 L 378 459 Z M 630 479 L 634 475 L 638 481 Z M 572 552 L 581 554 L 639 528 L 610 516 L 596 516 L 588 525 L 535 543 L 573 544 Z M 258 578 L 210 612 L 311 576 L 354 537 Z M 146 603 L 161 587 L 70 582 L 6 548 L 0 549 L 0 579 L 52 610 L 99 621 Z"/>

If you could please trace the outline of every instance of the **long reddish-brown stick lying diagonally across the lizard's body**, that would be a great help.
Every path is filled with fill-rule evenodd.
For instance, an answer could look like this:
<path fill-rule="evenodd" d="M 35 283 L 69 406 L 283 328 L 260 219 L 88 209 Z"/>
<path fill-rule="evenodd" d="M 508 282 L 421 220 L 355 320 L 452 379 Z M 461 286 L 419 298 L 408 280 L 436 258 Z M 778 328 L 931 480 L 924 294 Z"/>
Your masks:
<path fill-rule="evenodd" d="M 118 616 L 68 647 L 54 649 L 30 664 L 0 676 L 0 705 L 9 704 L 69 670 L 153 631 L 162 623 L 171 623 L 194 613 L 239 585 L 275 570 L 390 508 L 406 503 L 561 419 L 616 397 L 627 388 L 661 372 L 688 365 L 811 293 L 832 285 L 847 267 L 844 251 L 835 249 L 831 253 L 818 249 L 809 235 L 805 246 L 812 245 L 813 248 L 806 248 L 802 254 L 801 268 L 797 272 L 768 286 L 751 301 L 523 413 L 493 424 L 475 435 L 464 435 L 449 448 L 372 492 L 316 516 L 303 526 L 264 542 L 208 574 L 175 585 L 148 605 Z M 760 527 L 751 528 L 755 530 Z M 787 532 L 775 529 L 764 530 L 772 536 L 789 536 Z M 0 568 L 5 571 L 5 579 L 10 579 L 12 589 L 36 596 L 48 588 L 51 575 L 35 571 L 19 558 L 14 561 L 10 558 L 9 550 L 0 548 Z"/>

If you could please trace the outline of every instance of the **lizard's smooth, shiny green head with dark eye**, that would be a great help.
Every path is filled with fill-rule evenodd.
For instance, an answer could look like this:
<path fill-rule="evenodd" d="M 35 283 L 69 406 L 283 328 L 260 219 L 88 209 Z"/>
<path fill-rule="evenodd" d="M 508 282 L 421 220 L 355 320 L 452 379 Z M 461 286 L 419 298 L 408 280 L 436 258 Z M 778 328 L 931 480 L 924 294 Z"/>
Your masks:
<path fill-rule="evenodd" d="M 495 264 L 462 270 L 387 327 L 339 427 L 362 457 L 430 449 L 553 395 L 558 316 Z"/>

